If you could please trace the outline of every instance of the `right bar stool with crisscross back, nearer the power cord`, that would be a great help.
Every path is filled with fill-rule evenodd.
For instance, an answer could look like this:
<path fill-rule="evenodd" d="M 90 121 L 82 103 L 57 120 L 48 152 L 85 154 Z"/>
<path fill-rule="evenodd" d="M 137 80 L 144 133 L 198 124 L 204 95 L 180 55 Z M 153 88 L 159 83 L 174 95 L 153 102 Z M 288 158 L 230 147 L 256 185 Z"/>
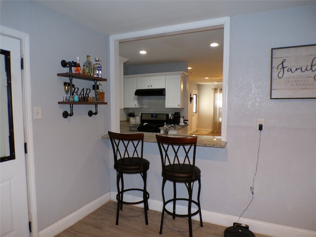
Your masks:
<path fill-rule="evenodd" d="M 201 206 L 199 201 L 201 191 L 201 170 L 195 165 L 197 137 L 183 136 L 161 136 L 156 135 L 158 148 L 162 164 L 162 200 L 163 208 L 161 214 L 160 232 L 162 234 L 164 212 L 176 216 L 188 217 L 189 219 L 189 235 L 192 237 L 192 216 L 199 214 L 200 226 L 203 226 Z M 173 198 L 165 200 L 164 186 L 166 181 L 173 183 Z M 197 181 L 197 199 L 193 200 L 193 188 Z M 177 197 L 176 183 L 185 184 L 188 190 L 188 197 Z M 187 202 L 187 214 L 176 213 L 176 202 Z M 172 210 L 168 210 L 167 204 L 172 203 Z M 169 206 L 168 206 L 169 207 Z M 197 210 L 192 212 L 192 207 Z M 171 207 L 169 207 L 171 209 Z"/>

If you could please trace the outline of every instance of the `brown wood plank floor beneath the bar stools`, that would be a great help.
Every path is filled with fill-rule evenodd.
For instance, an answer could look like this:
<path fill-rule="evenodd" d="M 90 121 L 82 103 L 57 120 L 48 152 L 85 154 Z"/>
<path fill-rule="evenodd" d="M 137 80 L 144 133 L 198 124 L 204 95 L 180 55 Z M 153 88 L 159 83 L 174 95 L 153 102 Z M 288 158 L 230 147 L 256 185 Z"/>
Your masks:
<path fill-rule="evenodd" d="M 165 214 L 162 235 L 159 235 L 161 212 L 148 211 L 145 225 L 143 208 L 123 205 L 115 224 L 117 202 L 109 201 L 56 237 L 189 237 L 188 219 Z M 233 224 L 233 223 L 232 223 Z M 227 227 L 193 221 L 194 237 L 224 237 Z M 256 237 L 267 237 L 255 234 Z"/>

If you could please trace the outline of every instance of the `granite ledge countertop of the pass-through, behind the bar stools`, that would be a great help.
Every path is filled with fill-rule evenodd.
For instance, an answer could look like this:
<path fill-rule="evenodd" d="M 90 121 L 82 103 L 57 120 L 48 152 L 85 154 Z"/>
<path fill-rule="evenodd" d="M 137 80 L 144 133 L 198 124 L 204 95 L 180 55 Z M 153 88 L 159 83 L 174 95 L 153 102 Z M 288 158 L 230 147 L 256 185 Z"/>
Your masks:
<path fill-rule="evenodd" d="M 124 132 L 124 133 L 138 133 L 138 132 Z M 162 133 L 144 132 L 144 142 L 157 142 L 156 134 L 162 135 Z M 167 135 L 167 136 L 188 136 L 188 135 Z M 225 148 L 226 142 L 222 142 L 221 137 L 215 136 L 202 136 L 202 135 L 190 135 L 197 136 L 197 146 L 199 147 L 217 147 Z M 103 135 L 102 138 L 109 139 L 109 135 Z"/>

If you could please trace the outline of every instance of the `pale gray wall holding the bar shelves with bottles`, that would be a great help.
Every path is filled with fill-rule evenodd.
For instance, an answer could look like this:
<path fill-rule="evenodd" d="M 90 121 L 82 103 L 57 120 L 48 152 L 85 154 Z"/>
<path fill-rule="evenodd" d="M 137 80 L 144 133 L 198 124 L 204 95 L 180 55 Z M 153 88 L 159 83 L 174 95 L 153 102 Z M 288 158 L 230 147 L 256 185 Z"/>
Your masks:
<path fill-rule="evenodd" d="M 74 116 L 63 118 L 68 105 L 58 105 L 66 78 L 62 59 L 81 65 L 86 55 L 100 57 L 108 77 L 107 37 L 58 15 L 32 1 L 1 1 L 1 25 L 30 35 L 32 107 L 42 119 L 33 120 L 36 197 L 39 230 L 52 225 L 110 191 L 108 159 L 101 136 L 109 129 L 110 106 L 74 106 Z M 109 81 L 103 82 L 109 101 Z M 80 88 L 92 82 L 74 80 Z M 33 213 L 34 214 L 34 213 Z"/>

